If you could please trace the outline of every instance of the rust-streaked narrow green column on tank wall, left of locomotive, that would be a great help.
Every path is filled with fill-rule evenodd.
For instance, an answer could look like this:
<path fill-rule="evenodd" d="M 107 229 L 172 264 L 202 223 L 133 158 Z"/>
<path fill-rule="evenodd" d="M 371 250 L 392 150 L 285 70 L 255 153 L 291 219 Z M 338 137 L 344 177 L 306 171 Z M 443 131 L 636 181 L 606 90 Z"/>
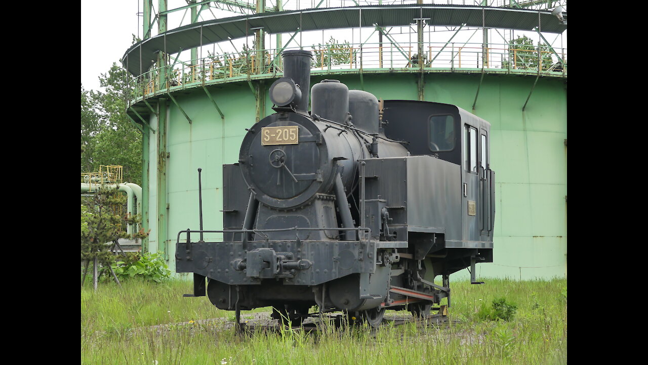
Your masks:
<path fill-rule="evenodd" d="M 157 249 L 164 251 L 168 260 L 167 99 L 160 98 L 157 105 Z"/>

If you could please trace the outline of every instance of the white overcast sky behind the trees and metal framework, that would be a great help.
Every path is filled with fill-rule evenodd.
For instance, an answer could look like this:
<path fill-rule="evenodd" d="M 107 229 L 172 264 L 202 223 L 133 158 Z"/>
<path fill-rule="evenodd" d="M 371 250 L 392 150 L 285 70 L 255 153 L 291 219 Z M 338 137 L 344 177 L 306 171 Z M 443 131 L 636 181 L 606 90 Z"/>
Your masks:
<path fill-rule="evenodd" d="M 284 0 L 285 2 L 285 0 Z M 290 1 L 290 3 L 294 2 Z M 138 35 L 141 37 L 141 27 L 142 27 L 142 17 L 137 16 L 138 8 L 141 9 L 142 0 L 82 0 L 81 1 L 81 83 L 86 90 L 100 90 L 99 88 L 99 75 L 100 73 L 108 72 L 108 69 L 112 66 L 113 62 L 119 64 L 120 58 L 126 52 L 126 49 L 130 47 L 132 42 L 132 34 Z M 153 1 L 154 7 L 157 8 L 157 1 Z M 274 1 L 270 1 L 274 3 Z M 168 0 L 168 8 L 178 8 L 179 6 L 186 5 L 185 0 Z M 312 7 L 312 6 L 302 6 L 302 7 Z M 140 10 L 141 11 L 141 10 Z M 238 16 L 240 14 L 235 14 L 231 12 L 222 12 L 218 10 L 213 10 L 216 16 L 219 17 L 229 17 L 229 16 Z M 211 14 L 208 14 L 205 10 L 205 16 L 213 18 Z M 185 18 L 182 18 L 185 17 Z M 185 12 L 179 11 L 169 14 L 168 16 L 168 29 L 173 29 L 178 27 L 181 22 L 182 25 L 187 24 L 188 16 Z M 205 20 L 199 19 L 199 21 Z M 139 24 L 138 24 L 139 21 Z M 157 23 L 154 25 L 154 29 L 157 29 Z M 403 29 L 406 31 L 406 29 Z M 434 42 L 445 42 L 450 38 L 454 32 L 443 31 L 442 27 L 436 27 L 437 33 L 434 34 Z M 373 29 L 364 28 L 362 29 L 362 40 L 371 34 Z M 397 31 L 395 31 L 397 32 Z M 509 37 L 509 31 L 499 30 L 500 34 L 507 32 L 505 36 Z M 157 32 L 154 32 L 154 35 Z M 427 33 L 427 29 L 426 29 Z M 454 38 L 453 42 L 466 42 L 470 34 L 473 31 L 461 31 Z M 503 40 L 496 31 L 490 31 L 491 43 L 502 44 Z M 514 36 L 526 34 L 531 39 L 535 40 L 537 44 L 538 34 L 535 32 L 522 32 L 515 31 Z M 329 40 L 329 36 L 332 35 L 334 38 L 338 39 L 340 42 L 347 40 L 349 42 L 358 43 L 359 31 L 354 29 L 341 30 L 341 31 L 327 31 L 325 34 L 325 41 Z M 562 36 L 557 34 L 547 34 L 544 33 L 545 38 L 553 43 L 554 47 L 567 47 L 567 32 L 565 31 Z M 303 34 L 303 44 L 318 44 L 322 42 L 322 32 L 304 32 Z M 409 39 L 413 37 L 412 39 Z M 395 35 L 394 38 L 397 42 L 416 42 L 416 35 L 412 34 L 406 35 Z M 289 35 L 284 35 L 283 42 L 286 42 L 289 38 Z M 299 36 L 297 36 L 299 38 Z M 371 42 L 377 42 L 377 33 L 374 37 L 376 40 Z M 428 35 L 425 37 L 425 42 L 428 42 Z M 238 51 L 240 51 L 242 44 L 245 40 L 235 40 L 234 44 L 236 45 Z M 249 42 L 251 42 L 251 37 Z M 385 42 L 388 42 L 385 39 Z M 475 34 L 475 36 L 470 40 L 470 42 L 481 42 L 481 32 Z M 291 44 L 295 46 L 296 44 Z M 220 52 L 232 52 L 233 47 L 229 45 L 229 42 L 222 42 L 220 44 L 221 49 L 216 46 L 205 46 L 203 48 L 203 57 L 207 56 L 207 49 Z M 266 36 L 266 47 L 276 47 L 275 37 Z M 188 54 L 188 52 L 185 52 Z M 186 58 L 185 53 L 181 59 Z M 222 52 L 220 52 L 222 53 Z"/>

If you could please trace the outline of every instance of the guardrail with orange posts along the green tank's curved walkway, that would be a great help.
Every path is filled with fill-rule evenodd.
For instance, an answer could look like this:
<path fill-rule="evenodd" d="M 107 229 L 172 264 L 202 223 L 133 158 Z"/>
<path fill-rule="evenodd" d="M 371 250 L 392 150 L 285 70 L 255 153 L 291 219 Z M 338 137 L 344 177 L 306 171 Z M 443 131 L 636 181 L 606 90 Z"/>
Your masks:
<path fill-rule="evenodd" d="M 484 71 L 566 77 L 565 48 L 533 47 L 516 44 L 476 44 L 424 42 L 419 57 L 417 42 L 393 44 L 332 44 L 311 46 L 313 74 L 348 72 Z M 209 55 L 188 62 L 169 62 L 131 79 L 130 105 L 145 97 L 166 94 L 203 84 L 279 77 L 281 51 L 264 49 Z M 540 60 L 540 62 L 538 62 Z"/>

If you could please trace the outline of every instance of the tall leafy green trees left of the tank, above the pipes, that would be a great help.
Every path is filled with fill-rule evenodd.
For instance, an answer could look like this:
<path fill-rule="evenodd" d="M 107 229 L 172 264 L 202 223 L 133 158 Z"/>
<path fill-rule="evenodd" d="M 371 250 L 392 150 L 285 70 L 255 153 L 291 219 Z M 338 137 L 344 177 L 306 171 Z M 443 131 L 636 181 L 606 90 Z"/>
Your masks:
<path fill-rule="evenodd" d="M 81 172 L 121 165 L 125 181 L 141 184 L 141 132 L 126 116 L 126 100 L 132 93 L 129 79 L 127 71 L 113 63 L 99 77 L 106 92 L 87 92 L 81 86 Z"/>

